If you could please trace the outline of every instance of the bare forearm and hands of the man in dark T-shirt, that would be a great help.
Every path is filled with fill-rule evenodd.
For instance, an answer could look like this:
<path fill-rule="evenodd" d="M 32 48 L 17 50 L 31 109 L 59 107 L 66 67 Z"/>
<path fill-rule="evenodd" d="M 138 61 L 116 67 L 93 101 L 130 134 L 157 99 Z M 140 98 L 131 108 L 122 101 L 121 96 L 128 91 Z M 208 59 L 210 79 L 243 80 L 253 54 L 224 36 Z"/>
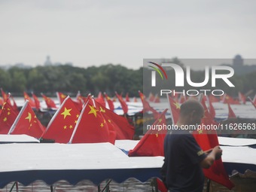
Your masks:
<path fill-rule="evenodd" d="M 208 151 L 207 151 L 208 152 Z M 212 149 L 211 152 L 200 162 L 200 166 L 204 169 L 209 169 L 215 160 L 221 158 L 222 150 L 219 146 Z"/>

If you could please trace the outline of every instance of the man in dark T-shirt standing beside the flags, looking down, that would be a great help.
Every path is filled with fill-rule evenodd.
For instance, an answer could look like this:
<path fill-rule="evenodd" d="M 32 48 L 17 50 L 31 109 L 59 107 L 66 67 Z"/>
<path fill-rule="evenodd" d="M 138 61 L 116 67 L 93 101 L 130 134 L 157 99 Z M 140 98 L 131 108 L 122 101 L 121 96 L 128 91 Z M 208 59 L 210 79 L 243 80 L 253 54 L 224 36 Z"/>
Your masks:
<path fill-rule="evenodd" d="M 203 152 L 190 131 L 184 129 L 185 126 L 200 124 L 203 114 L 200 102 L 187 100 L 181 105 L 179 129 L 166 135 L 161 174 L 170 192 L 202 192 L 203 168 L 208 169 L 221 157 L 221 148 L 216 146 L 212 151 Z"/>

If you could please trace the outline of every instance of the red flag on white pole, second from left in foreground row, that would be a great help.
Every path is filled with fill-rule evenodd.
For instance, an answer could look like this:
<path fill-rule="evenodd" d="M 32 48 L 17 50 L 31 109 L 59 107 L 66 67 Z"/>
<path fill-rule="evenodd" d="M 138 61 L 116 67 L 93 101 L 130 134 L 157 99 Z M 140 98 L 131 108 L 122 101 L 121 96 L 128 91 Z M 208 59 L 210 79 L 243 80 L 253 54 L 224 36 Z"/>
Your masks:
<path fill-rule="evenodd" d="M 44 126 L 36 117 L 35 112 L 29 105 L 29 101 L 26 100 L 8 134 L 26 134 L 27 136 L 39 139 L 44 133 L 44 130 Z"/>

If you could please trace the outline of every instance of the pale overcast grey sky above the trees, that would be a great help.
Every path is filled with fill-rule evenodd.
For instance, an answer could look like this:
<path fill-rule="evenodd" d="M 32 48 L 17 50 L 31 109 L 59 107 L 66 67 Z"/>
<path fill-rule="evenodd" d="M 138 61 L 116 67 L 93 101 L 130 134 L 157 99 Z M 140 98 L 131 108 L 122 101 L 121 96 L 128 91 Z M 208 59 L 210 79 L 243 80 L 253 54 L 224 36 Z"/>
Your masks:
<path fill-rule="evenodd" d="M 0 65 L 256 55 L 256 1 L 0 0 Z"/>

